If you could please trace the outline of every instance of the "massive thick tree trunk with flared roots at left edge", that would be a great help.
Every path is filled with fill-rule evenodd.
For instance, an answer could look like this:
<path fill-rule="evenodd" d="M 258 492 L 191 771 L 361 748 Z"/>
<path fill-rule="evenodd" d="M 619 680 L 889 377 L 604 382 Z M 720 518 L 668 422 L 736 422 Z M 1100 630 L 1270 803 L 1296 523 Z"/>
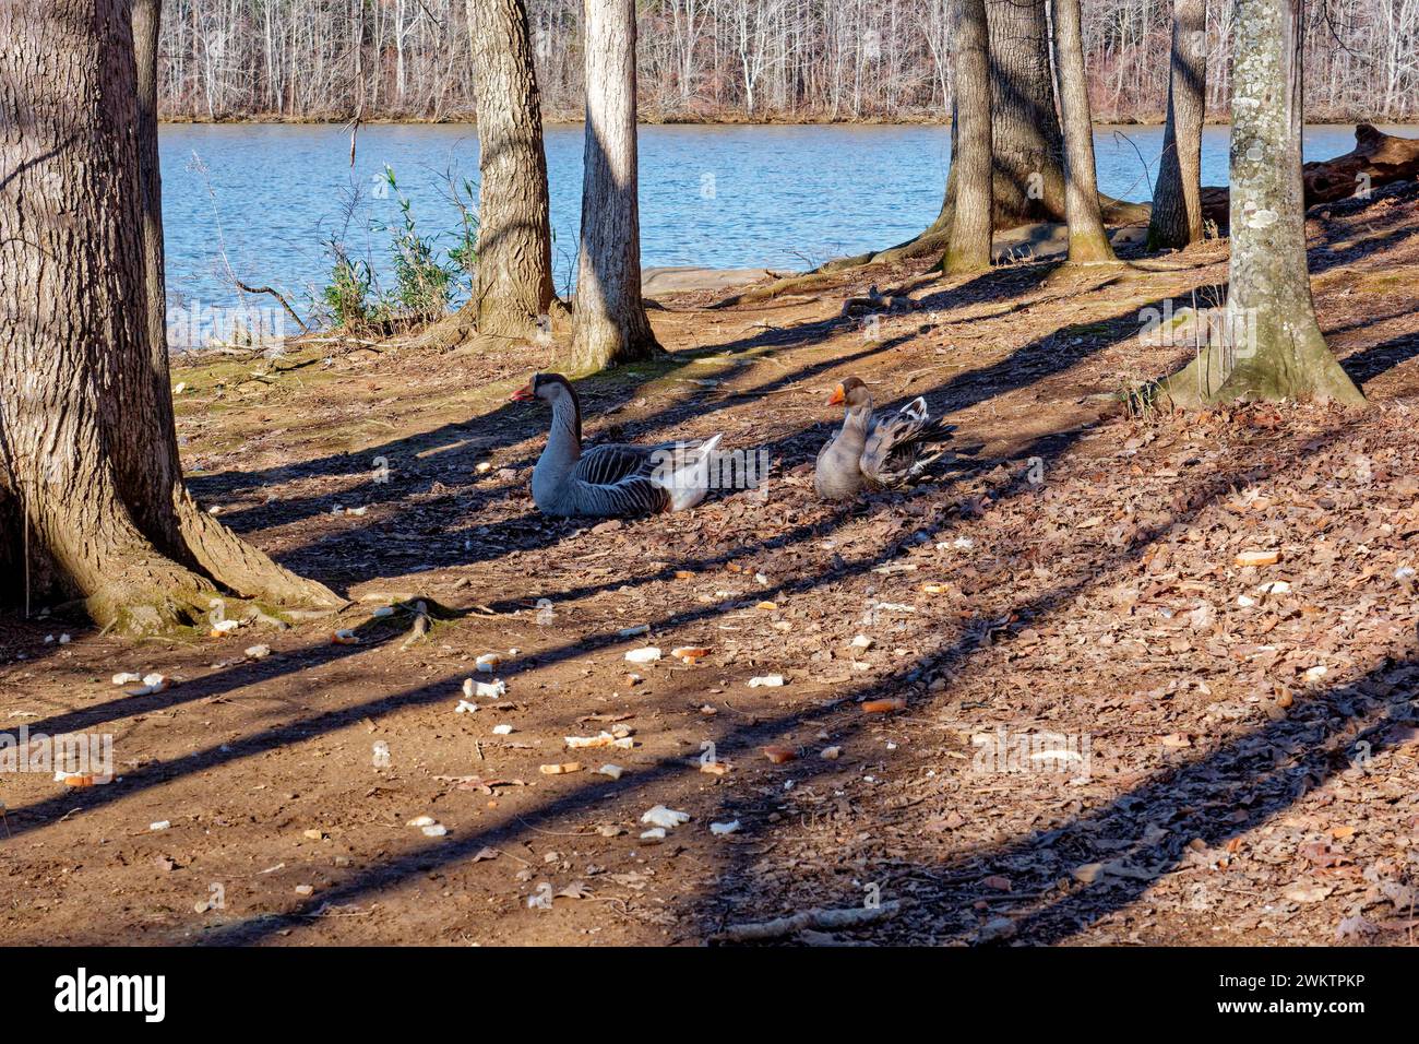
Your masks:
<path fill-rule="evenodd" d="M 180 482 L 153 338 L 166 310 L 149 284 L 162 271 L 152 77 L 136 101 L 156 17 L 123 0 L 0 4 L 0 487 L 24 516 L 3 538 L 27 544 L 38 594 L 82 597 L 126 631 L 196 619 L 213 577 L 339 605 L 199 511 Z M 243 565 L 200 574 L 210 558 Z"/>

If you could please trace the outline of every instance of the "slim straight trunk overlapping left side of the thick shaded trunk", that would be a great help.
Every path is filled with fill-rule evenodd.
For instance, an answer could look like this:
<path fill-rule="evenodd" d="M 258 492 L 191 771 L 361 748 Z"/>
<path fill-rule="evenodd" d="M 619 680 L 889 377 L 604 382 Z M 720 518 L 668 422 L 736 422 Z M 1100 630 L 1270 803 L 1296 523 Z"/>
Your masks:
<path fill-rule="evenodd" d="M 956 78 L 951 176 L 956 199 L 945 268 L 962 273 L 990 267 L 990 45 L 985 0 L 952 0 L 951 17 Z"/>

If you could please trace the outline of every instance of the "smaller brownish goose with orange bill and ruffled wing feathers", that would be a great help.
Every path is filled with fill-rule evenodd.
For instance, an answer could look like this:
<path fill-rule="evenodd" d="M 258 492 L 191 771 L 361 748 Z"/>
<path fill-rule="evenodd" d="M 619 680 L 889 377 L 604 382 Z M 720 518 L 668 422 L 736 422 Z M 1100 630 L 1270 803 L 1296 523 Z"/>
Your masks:
<path fill-rule="evenodd" d="M 927 415 L 927 401 L 912 399 L 897 412 L 873 415 L 873 393 L 856 376 L 833 389 L 829 405 L 847 408 L 843 426 L 817 453 L 813 487 L 824 500 L 846 500 L 863 490 L 904 486 L 941 452 L 928 447 L 951 437 L 954 425 Z"/>

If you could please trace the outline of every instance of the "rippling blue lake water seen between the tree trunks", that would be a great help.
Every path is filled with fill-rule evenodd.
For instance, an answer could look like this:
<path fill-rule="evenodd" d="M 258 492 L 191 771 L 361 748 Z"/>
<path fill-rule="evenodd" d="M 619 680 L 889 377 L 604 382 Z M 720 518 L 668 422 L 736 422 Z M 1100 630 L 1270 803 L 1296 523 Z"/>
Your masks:
<path fill-rule="evenodd" d="M 1227 134 L 1203 131 L 1205 185 L 1227 180 Z M 1307 159 L 1352 146 L 1349 126 L 1305 132 Z M 1103 192 L 1149 197 L 1161 126 L 1098 128 L 1095 148 Z M 349 134 L 328 125 L 165 125 L 160 149 L 167 288 L 186 308 L 240 304 L 230 264 L 243 281 L 284 288 L 309 311 L 329 274 L 322 240 L 331 237 L 387 280 L 389 236 L 377 226 L 397 223 L 399 213 L 382 186 L 385 166 L 412 200 L 420 232 L 446 236 L 443 246 L 458 226 L 446 176 L 478 173 L 477 134 L 467 125 L 365 126 L 353 168 Z M 546 153 L 556 283 L 565 290 L 580 213 L 580 126 L 548 128 Z M 641 260 L 806 268 L 890 246 L 937 216 L 949 159 L 944 126 L 644 126 Z"/>

